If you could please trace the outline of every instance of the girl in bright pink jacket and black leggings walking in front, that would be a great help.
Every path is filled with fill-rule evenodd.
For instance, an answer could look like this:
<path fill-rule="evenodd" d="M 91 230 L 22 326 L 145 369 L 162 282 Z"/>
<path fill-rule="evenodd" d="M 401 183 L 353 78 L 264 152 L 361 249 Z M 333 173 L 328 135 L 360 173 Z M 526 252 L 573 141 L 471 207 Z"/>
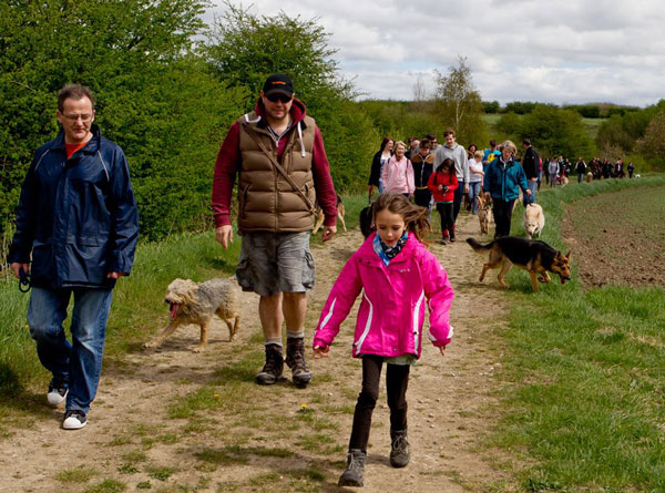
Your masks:
<path fill-rule="evenodd" d="M 409 463 L 407 441 L 407 384 L 410 366 L 420 358 L 427 337 L 441 355 L 452 337 L 450 306 L 453 291 L 437 257 L 422 244 L 430 230 L 427 208 L 403 195 L 381 194 L 374 205 L 377 232 L 372 233 L 341 269 L 314 335 L 314 357 L 328 356 L 358 295 L 352 355 L 362 359 L 362 389 L 354 413 L 347 469 L 338 484 L 362 486 L 371 414 L 379 378 L 387 363 L 386 386 L 390 408 L 390 464 Z M 424 307 L 430 329 L 422 333 Z"/>

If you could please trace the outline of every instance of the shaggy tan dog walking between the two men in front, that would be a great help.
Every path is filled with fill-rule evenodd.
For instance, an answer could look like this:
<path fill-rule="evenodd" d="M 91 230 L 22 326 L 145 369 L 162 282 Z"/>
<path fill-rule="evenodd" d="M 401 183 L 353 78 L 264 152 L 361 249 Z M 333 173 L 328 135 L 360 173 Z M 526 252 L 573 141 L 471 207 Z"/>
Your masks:
<path fill-rule="evenodd" d="M 144 348 L 156 348 L 180 326 L 195 323 L 201 327 L 201 342 L 194 348 L 194 352 L 201 352 L 207 345 L 213 315 L 224 320 L 228 327 L 229 341 L 241 328 L 238 287 L 232 280 L 211 279 L 196 284 L 190 279 L 175 279 L 168 285 L 164 301 L 171 309 L 171 323 L 162 333 L 144 343 Z"/>

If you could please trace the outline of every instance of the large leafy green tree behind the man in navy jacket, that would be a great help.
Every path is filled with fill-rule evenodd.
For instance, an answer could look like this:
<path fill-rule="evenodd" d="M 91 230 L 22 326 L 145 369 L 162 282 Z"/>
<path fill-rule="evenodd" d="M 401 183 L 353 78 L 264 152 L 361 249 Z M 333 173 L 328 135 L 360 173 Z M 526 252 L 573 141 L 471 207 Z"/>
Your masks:
<path fill-rule="evenodd" d="M 242 91 L 193 55 L 204 0 L 0 3 L 0 223 L 13 218 L 35 148 L 58 133 L 65 83 L 96 95 L 96 123 L 130 164 L 143 237 L 209 216 L 212 163 Z"/>

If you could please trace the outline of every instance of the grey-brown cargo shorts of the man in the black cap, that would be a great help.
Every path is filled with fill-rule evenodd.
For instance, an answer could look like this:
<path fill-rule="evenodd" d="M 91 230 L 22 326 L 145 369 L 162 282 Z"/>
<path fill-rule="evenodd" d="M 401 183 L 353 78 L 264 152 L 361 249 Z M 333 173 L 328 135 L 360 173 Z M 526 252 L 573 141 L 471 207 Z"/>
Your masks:
<path fill-rule="evenodd" d="M 243 245 L 236 279 L 259 296 L 305 292 L 314 287 L 309 232 L 241 232 Z"/>

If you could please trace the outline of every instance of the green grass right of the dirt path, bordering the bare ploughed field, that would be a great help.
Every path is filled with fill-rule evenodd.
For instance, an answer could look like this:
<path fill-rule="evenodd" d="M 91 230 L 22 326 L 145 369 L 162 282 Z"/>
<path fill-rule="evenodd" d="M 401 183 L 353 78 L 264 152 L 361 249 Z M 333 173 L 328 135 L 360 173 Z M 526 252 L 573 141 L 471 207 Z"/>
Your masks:
<path fill-rule="evenodd" d="M 543 239 L 563 247 L 559 224 L 567 203 L 664 184 L 663 177 L 604 181 L 541 193 L 548 217 Z M 521 207 L 514 234 L 521 234 L 519 214 Z M 524 459 L 522 487 L 664 491 L 663 289 L 584 290 L 573 279 L 535 295 L 519 274 L 509 276 L 514 308 L 504 332 L 507 398 L 494 444 Z"/>

